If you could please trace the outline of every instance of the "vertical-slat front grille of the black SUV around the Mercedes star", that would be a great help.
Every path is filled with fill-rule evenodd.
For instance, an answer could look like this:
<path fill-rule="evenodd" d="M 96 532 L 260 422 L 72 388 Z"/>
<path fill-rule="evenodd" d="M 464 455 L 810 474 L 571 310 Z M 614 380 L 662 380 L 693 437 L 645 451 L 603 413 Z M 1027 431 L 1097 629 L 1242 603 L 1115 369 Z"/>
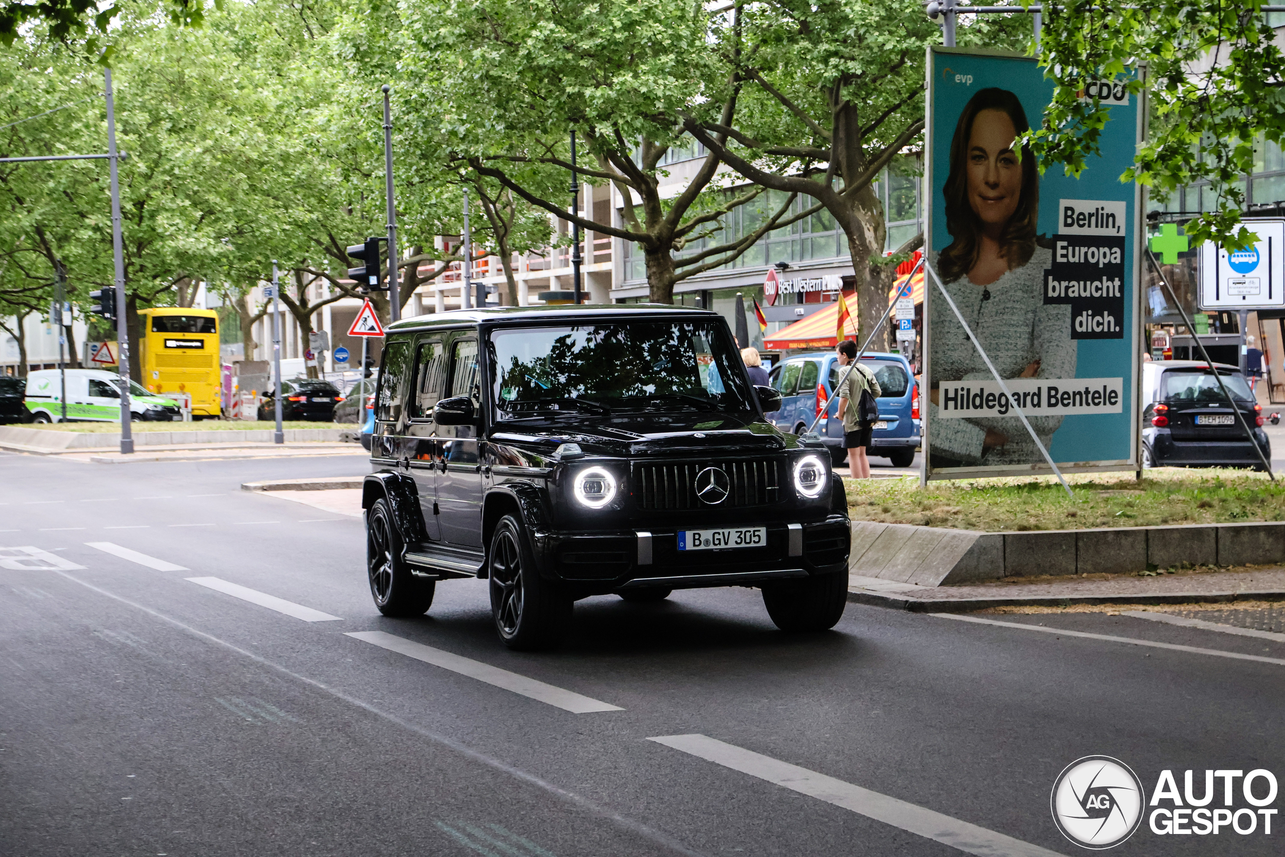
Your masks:
<path fill-rule="evenodd" d="M 718 461 L 682 464 L 635 464 L 634 499 L 639 509 L 705 509 L 696 499 L 696 474 L 708 466 L 727 474 L 727 499 L 722 508 L 765 506 L 780 499 L 780 463 Z"/>

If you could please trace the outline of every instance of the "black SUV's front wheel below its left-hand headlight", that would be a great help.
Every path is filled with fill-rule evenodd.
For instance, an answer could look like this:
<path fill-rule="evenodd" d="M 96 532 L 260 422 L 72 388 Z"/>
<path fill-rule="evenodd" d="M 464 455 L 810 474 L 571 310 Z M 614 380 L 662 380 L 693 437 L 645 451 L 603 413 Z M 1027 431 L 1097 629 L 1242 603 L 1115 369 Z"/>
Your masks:
<path fill-rule="evenodd" d="M 562 642 L 574 603 L 555 583 L 541 579 L 526 528 L 513 515 L 505 515 L 495 527 L 487 573 L 491 618 L 504 645 L 532 651 Z"/>

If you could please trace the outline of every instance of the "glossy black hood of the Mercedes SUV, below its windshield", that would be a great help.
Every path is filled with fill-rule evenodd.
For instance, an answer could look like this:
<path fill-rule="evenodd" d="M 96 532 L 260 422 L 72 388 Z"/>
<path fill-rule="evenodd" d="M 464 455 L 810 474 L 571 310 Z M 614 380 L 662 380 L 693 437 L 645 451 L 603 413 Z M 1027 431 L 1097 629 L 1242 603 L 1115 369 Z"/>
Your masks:
<path fill-rule="evenodd" d="M 586 455 L 666 456 L 744 455 L 794 448 L 793 434 L 750 414 L 613 414 L 555 416 L 496 424 L 490 438 L 550 455 L 562 443 L 577 443 Z"/>

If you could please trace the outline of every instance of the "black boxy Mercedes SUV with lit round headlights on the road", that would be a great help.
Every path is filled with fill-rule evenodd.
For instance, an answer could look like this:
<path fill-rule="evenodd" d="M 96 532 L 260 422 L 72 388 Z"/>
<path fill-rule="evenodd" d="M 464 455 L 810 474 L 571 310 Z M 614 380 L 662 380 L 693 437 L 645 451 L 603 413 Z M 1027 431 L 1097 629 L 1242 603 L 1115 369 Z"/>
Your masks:
<path fill-rule="evenodd" d="M 490 579 L 510 648 L 572 604 L 753 586 L 786 631 L 833 627 L 848 587 L 843 484 L 819 439 L 763 418 L 726 322 L 669 306 L 461 310 L 392 325 L 362 490 L 386 615 L 439 579 Z"/>

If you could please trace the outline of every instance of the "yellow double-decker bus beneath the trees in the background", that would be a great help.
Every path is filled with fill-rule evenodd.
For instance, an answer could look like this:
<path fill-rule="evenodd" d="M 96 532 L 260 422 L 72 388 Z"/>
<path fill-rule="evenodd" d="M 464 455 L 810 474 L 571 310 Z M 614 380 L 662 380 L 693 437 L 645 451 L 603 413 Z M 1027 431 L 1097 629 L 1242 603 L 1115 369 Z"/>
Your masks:
<path fill-rule="evenodd" d="M 139 380 L 153 393 L 188 393 L 193 418 L 222 414 L 218 314 L 158 307 L 139 311 Z"/>

